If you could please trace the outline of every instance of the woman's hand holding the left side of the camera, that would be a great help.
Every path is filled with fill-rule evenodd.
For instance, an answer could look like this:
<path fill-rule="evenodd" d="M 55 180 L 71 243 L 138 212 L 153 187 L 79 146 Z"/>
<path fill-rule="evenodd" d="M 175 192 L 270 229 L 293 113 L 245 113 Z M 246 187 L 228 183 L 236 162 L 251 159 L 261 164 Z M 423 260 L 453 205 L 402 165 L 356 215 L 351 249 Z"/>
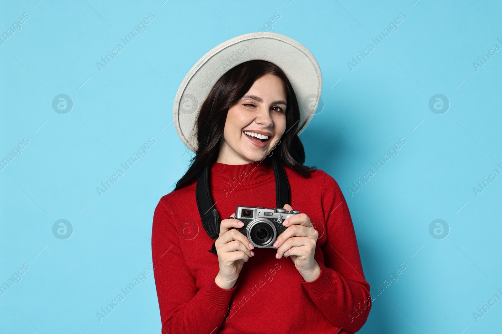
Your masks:
<path fill-rule="evenodd" d="M 230 217 L 235 216 L 233 213 Z M 244 262 L 254 256 L 253 246 L 247 237 L 235 230 L 244 226 L 238 219 L 223 219 L 220 224 L 220 233 L 214 246 L 218 254 L 219 272 L 214 278 L 216 285 L 223 289 L 231 289 L 239 276 Z M 232 228 L 234 227 L 234 228 Z"/>

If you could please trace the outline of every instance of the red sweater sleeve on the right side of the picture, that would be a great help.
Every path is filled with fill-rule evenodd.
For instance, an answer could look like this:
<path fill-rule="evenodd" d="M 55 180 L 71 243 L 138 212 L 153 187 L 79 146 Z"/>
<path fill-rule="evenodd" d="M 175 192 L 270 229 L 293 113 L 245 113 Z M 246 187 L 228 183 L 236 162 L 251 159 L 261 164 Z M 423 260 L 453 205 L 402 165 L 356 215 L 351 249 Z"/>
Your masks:
<path fill-rule="evenodd" d="M 326 243 L 321 246 L 324 264 L 316 258 L 321 268 L 319 277 L 310 282 L 301 280 L 311 299 L 333 325 L 356 332 L 366 322 L 371 308 L 369 284 L 362 272 L 352 219 L 340 187 L 324 171 L 322 181 L 327 233 Z"/>

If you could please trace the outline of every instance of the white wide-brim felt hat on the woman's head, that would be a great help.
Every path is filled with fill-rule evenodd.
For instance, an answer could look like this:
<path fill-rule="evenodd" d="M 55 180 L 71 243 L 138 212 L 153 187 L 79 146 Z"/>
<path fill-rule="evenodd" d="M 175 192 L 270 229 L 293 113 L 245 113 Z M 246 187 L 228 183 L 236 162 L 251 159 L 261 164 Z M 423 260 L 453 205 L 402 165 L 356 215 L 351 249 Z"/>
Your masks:
<path fill-rule="evenodd" d="M 231 68 L 265 60 L 279 66 L 288 77 L 300 107 L 300 134 L 315 114 L 321 97 L 321 69 L 312 53 L 297 41 L 276 33 L 260 32 L 234 37 L 206 53 L 181 83 L 173 107 L 178 136 L 192 151 L 197 150 L 195 123 L 200 107 L 216 81 Z"/>

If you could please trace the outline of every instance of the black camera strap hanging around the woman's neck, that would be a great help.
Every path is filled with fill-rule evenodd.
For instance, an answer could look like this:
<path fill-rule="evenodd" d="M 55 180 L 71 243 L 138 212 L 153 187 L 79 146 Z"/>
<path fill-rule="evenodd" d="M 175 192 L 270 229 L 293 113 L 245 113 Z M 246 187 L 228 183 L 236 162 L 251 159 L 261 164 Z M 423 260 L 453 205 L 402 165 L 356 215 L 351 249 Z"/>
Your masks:
<path fill-rule="evenodd" d="M 274 168 L 274 176 L 276 179 L 276 205 L 277 208 L 283 208 L 285 204 L 291 205 L 291 196 L 289 189 L 288 177 L 281 163 L 275 158 L 270 157 Z M 211 196 L 210 166 L 207 165 L 204 171 L 197 180 L 195 187 L 195 198 L 197 200 L 197 208 L 199 209 L 202 226 L 211 239 L 216 240 L 219 235 L 220 218 L 218 211 L 214 206 L 214 201 Z M 216 247 L 213 245 L 209 252 L 216 254 Z"/>

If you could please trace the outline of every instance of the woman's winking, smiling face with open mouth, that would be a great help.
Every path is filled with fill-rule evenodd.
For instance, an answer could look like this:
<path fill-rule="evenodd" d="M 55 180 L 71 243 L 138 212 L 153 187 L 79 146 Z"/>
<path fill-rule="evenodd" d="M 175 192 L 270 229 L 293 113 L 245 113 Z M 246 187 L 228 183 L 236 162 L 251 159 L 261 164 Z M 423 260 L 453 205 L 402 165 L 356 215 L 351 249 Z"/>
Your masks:
<path fill-rule="evenodd" d="M 266 74 L 228 109 L 216 161 L 242 165 L 263 160 L 285 131 L 284 83 L 279 77 Z"/>

